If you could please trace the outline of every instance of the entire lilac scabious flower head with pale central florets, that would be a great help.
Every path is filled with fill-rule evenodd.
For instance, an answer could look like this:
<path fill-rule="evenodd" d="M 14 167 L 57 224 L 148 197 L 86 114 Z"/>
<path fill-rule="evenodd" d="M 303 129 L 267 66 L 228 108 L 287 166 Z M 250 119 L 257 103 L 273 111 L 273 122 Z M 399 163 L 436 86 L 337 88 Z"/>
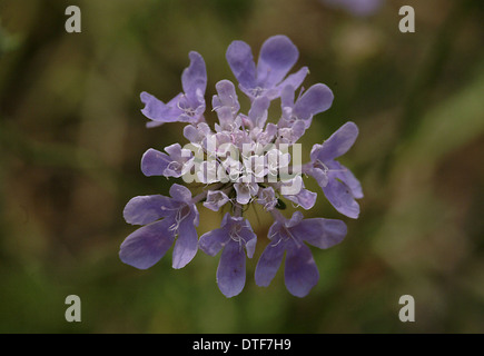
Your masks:
<path fill-rule="evenodd" d="M 298 59 L 296 46 L 286 36 L 267 39 L 257 63 L 250 47 L 234 41 L 226 58 L 238 86 L 223 79 L 215 86 L 213 111 L 218 122 L 205 120 L 207 72 L 205 61 L 190 52 L 190 65 L 181 75 L 182 92 L 164 103 L 142 92 L 142 113 L 148 127 L 166 122 L 186 122 L 184 136 L 189 144 L 174 144 L 165 152 L 148 149 L 141 158 L 146 176 L 182 178 L 185 182 L 204 184 L 201 192 L 174 184 L 170 197 L 161 195 L 132 198 L 125 208 L 125 219 L 141 227 L 121 244 L 121 260 L 145 269 L 155 265 L 175 245 L 172 267 L 186 266 L 198 249 L 210 256 L 220 254 L 217 284 L 233 297 L 246 283 L 246 257 L 253 258 L 257 236 L 244 211 L 256 204 L 274 217 L 268 233 L 269 244 L 256 267 L 256 284 L 268 286 L 285 261 L 286 287 L 297 297 L 306 296 L 318 280 L 318 271 L 309 247 L 329 248 L 346 235 L 340 220 L 304 219 L 300 211 L 287 219 L 280 212 L 284 200 L 304 210 L 312 209 L 317 192 L 306 189 L 304 176 L 312 176 L 329 202 L 342 214 L 356 218 L 362 187 L 353 174 L 335 159 L 354 144 L 358 129 L 347 122 L 322 145 L 315 145 L 310 160 L 302 162 L 297 141 L 310 127 L 314 117 L 332 106 L 332 90 L 316 83 L 298 89 L 308 70 L 303 67 L 289 75 Z M 250 100 L 248 112 L 240 112 L 237 87 Z M 296 91 L 298 96 L 296 97 Z M 269 108 L 280 98 L 280 117 L 270 122 Z M 196 205 L 225 214 L 221 226 L 198 238 Z"/>

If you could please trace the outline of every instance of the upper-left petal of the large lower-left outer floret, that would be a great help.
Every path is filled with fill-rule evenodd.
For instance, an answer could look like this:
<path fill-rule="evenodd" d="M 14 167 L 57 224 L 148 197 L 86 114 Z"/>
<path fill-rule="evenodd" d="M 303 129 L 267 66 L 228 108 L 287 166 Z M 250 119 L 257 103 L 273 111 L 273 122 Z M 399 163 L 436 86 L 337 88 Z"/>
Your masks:
<path fill-rule="evenodd" d="M 160 195 L 135 197 L 125 207 L 125 220 L 131 225 L 146 225 L 172 214 L 171 199 Z"/>

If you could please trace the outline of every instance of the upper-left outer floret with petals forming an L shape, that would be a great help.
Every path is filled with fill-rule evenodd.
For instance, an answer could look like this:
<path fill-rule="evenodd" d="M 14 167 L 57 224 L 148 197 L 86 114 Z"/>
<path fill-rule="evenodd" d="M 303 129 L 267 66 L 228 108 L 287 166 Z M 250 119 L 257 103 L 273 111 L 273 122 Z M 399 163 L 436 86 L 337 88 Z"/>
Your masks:
<path fill-rule="evenodd" d="M 197 123 L 204 119 L 205 90 L 207 88 L 207 70 L 201 56 L 195 51 L 190 55 L 190 66 L 181 75 L 184 92 L 164 103 L 148 92 L 141 92 L 141 101 L 145 108 L 141 112 L 150 120 L 148 127 L 155 127 L 165 122 L 190 122 Z"/>

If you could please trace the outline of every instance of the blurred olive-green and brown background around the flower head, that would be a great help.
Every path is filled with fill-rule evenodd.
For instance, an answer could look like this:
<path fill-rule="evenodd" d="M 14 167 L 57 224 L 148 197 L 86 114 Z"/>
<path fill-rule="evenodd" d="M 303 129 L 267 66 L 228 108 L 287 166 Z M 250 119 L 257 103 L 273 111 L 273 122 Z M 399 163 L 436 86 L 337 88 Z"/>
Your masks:
<path fill-rule="evenodd" d="M 69 4 L 81 33 L 65 31 Z M 415 33 L 398 31 L 404 4 Z M 364 17 L 318 0 L 0 1 L 0 332 L 483 333 L 483 14 L 480 0 L 388 0 Z M 181 270 L 170 251 L 145 271 L 124 265 L 125 204 L 176 181 L 145 177 L 141 155 L 185 142 L 180 123 L 145 127 L 139 93 L 172 98 L 196 50 L 210 101 L 218 80 L 235 80 L 227 46 L 241 39 L 257 56 L 278 33 L 299 48 L 295 69 L 310 69 L 305 87 L 335 93 L 306 154 L 347 120 L 360 128 L 342 158 L 364 188 L 359 219 L 307 182 L 319 197 L 305 215 L 348 225 L 343 244 L 313 249 L 318 285 L 303 299 L 281 270 L 255 285 L 261 211 L 249 214 L 259 246 L 237 297 L 221 295 L 218 257 L 201 251 Z M 201 235 L 221 216 L 200 211 Z M 81 323 L 65 319 L 71 294 Z M 402 295 L 415 323 L 398 319 Z"/>

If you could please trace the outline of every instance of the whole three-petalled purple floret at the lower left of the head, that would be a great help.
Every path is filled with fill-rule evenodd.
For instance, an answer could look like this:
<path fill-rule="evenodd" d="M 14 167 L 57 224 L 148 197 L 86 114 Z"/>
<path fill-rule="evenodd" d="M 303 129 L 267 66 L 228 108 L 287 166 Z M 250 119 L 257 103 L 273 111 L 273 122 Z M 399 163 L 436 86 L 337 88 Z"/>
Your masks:
<path fill-rule="evenodd" d="M 135 197 L 126 205 L 126 221 L 144 226 L 121 244 L 119 257 L 125 264 L 139 269 L 149 268 L 165 256 L 175 239 L 174 268 L 185 267 L 195 257 L 198 210 L 191 192 L 188 188 L 174 184 L 170 196 L 171 198 L 160 195 Z"/>

